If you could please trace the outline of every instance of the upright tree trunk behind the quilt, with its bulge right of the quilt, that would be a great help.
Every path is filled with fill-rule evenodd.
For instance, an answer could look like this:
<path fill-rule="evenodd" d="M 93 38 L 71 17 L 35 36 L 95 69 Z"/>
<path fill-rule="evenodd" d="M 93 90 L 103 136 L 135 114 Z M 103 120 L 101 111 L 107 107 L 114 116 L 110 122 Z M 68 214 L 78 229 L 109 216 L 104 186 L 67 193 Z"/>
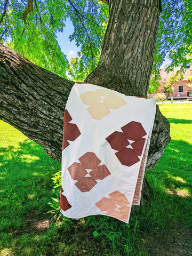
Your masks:
<path fill-rule="evenodd" d="M 159 0 L 109 1 L 109 22 L 97 68 L 85 82 L 146 97 L 158 30 Z M 170 142 L 170 124 L 157 106 L 146 170 Z"/>

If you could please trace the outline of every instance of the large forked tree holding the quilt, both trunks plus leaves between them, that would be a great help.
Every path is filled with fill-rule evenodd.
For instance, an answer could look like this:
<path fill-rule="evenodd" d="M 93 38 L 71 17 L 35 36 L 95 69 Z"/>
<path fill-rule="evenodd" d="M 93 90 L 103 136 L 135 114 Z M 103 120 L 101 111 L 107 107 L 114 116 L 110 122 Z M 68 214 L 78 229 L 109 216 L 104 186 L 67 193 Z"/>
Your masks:
<path fill-rule="evenodd" d="M 31 2 L 31 0 L 29 0 L 29 2 Z M 97 1 L 92 2 L 98 4 Z M 145 97 L 153 66 L 161 1 L 118 0 L 103 2 L 109 4 L 108 26 L 105 37 L 103 38 L 98 66 L 87 76 L 85 82 L 117 90 L 127 95 Z M 37 4 L 37 1 L 35 3 Z M 59 1 L 59 3 L 63 4 L 63 1 Z M 69 10 L 67 10 L 70 12 L 73 3 L 71 4 L 71 1 L 68 1 L 68 3 L 69 5 L 67 6 Z M 83 3 L 84 1 L 82 1 L 82 5 Z M 62 23 L 62 21 L 60 19 L 58 20 L 57 17 L 52 17 L 52 10 L 56 7 L 53 2 L 46 1 L 42 2 L 42 5 L 50 5 L 49 17 L 51 20 L 49 22 L 52 22 L 54 26 L 52 23 L 46 23 L 49 19 L 46 17 L 46 12 L 41 14 L 40 4 L 38 4 L 36 10 L 37 13 L 39 13 L 36 18 L 40 21 L 42 20 L 38 29 L 33 24 L 33 13 L 28 13 L 27 16 L 25 16 L 25 12 L 22 12 L 22 20 L 20 19 L 21 12 L 18 13 L 19 21 L 14 20 L 14 26 L 15 24 L 18 25 L 18 28 L 15 26 L 15 29 L 20 29 L 17 33 L 20 33 L 21 36 L 23 36 L 27 30 L 30 34 L 32 27 L 34 29 L 34 35 L 30 34 L 30 37 L 37 37 L 36 41 L 39 40 L 37 44 L 39 47 L 42 47 L 43 53 L 45 53 L 47 49 L 45 45 L 53 43 L 53 50 L 50 54 L 45 54 L 45 57 L 49 55 L 50 59 L 48 57 L 47 59 L 45 58 L 46 60 L 43 66 L 48 67 L 47 69 L 50 69 L 52 72 L 34 65 L 19 53 L 0 44 L 0 119 L 12 124 L 30 139 L 39 143 L 50 157 L 61 161 L 63 111 L 71 86 L 73 86 L 74 82 L 53 74 L 58 68 L 54 62 L 54 47 L 57 49 L 58 47 L 55 43 L 55 37 L 51 39 L 47 37 L 47 34 L 49 34 L 47 27 L 49 27 L 49 25 L 51 26 L 50 30 L 53 34 L 54 28 L 58 27 L 58 24 Z M 18 6 L 20 5 L 21 3 L 19 2 L 13 7 L 19 8 Z M 80 4 L 80 7 L 82 5 Z M 91 10 L 91 5 L 89 8 L 89 10 Z M 29 5 L 26 10 L 28 9 Z M 6 10 L 5 7 L 4 10 Z M 73 21 L 74 24 L 75 26 L 81 25 L 81 31 L 84 31 L 86 34 L 86 40 L 81 38 L 83 47 L 85 47 L 85 51 L 83 52 L 87 53 L 87 51 L 89 51 L 91 54 L 90 57 L 87 53 L 87 63 L 91 61 L 94 62 L 94 60 L 96 62 L 98 53 L 93 51 L 94 48 L 90 41 L 90 34 L 88 30 L 85 29 L 82 22 L 83 14 L 81 15 L 76 7 L 75 9 L 73 8 L 73 12 L 74 10 L 76 10 L 76 18 L 78 17 L 78 21 Z M 61 6 L 57 11 L 61 11 L 62 15 L 65 15 L 63 10 L 61 10 Z M 95 17 L 97 17 L 97 15 L 100 14 L 95 13 Z M 27 23 L 28 17 L 31 27 L 28 26 Z M 97 20 L 91 20 L 92 16 L 88 14 L 87 17 L 89 18 L 89 22 L 87 22 L 92 25 L 94 23 L 96 29 L 98 27 Z M 100 20 L 102 19 L 103 17 L 100 18 Z M 43 23 L 44 20 L 46 21 L 45 23 Z M 9 23 L 6 19 L 5 22 Z M 22 22 L 24 22 L 24 25 L 21 26 Z M 42 28 L 42 26 L 45 28 Z M 44 38 L 39 32 L 41 29 L 44 33 Z M 97 33 L 98 30 L 96 29 L 95 35 L 97 35 Z M 14 45 L 20 47 L 20 42 L 18 42 L 17 37 L 14 36 Z M 74 34 L 73 37 L 75 36 Z M 43 42 L 42 40 L 44 44 L 40 45 Z M 97 36 L 95 42 L 96 41 L 98 41 Z M 25 40 L 24 43 L 24 46 L 27 47 Z M 30 49 L 28 48 L 28 50 Z M 34 49 L 31 49 L 31 51 L 32 50 L 34 51 Z M 41 53 L 39 52 L 39 54 Z M 85 56 L 86 54 L 82 56 L 82 59 L 85 61 L 84 63 L 86 63 Z M 38 53 L 36 54 L 36 58 L 38 59 Z M 49 60 L 51 61 L 50 65 Z M 62 73 L 62 76 L 65 77 L 65 75 L 63 75 L 65 74 L 63 68 L 61 71 L 58 71 L 58 73 Z M 170 141 L 169 129 L 169 122 L 166 121 L 157 107 L 147 169 L 151 169 L 157 163 L 158 158 L 163 155 L 163 149 Z"/>

